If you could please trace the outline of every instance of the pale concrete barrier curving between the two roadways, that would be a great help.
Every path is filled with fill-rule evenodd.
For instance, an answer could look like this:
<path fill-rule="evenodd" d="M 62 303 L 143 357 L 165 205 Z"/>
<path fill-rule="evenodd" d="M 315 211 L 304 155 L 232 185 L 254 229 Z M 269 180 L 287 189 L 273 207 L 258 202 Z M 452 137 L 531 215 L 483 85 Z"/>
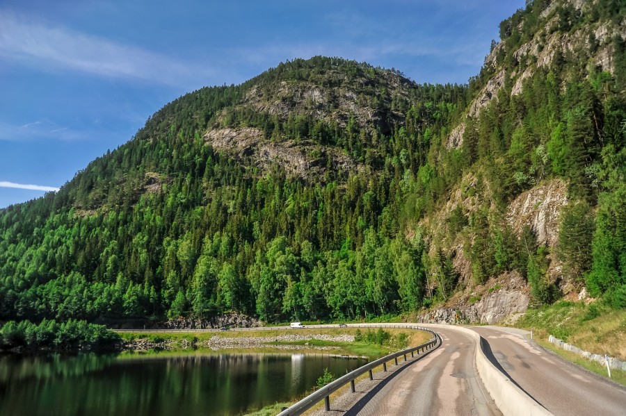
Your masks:
<path fill-rule="evenodd" d="M 549 416 L 552 415 L 546 408 L 541 406 L 530 397 L 524 390 L 520 389 L 485 355 L 485 340 L 470 328 L 454 325 L 442 324 L 422 324 L 425 328 L 442 328 L 459 331 L 470 335 L 476 341 L 476 368 L 479 376 L 487 388 L 496 406 L 504 416 Z"/>

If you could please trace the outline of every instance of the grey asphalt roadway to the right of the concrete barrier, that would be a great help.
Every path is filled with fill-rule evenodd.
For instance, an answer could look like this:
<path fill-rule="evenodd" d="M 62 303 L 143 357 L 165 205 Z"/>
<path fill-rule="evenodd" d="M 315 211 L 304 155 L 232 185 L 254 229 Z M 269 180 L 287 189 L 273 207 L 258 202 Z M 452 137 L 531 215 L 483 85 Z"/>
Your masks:
<path fill-rule="evenodd" d="M 555 416 L 626 415 L 626 388 L 538 347 L 527 331 L 469 328 L 488 342 L 492 363 Z"/>

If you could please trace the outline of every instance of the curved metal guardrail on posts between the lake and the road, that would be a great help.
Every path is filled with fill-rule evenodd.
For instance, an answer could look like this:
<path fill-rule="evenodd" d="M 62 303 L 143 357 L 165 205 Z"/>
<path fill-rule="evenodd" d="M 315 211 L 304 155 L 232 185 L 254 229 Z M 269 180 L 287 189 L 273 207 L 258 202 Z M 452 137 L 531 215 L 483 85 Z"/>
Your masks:
<path fill-rule="evenodd" d="M 351 327 L 354 326 L 358 326 L 358 325 L 351 325 Z M 372 328 L 372 327 L 385 327 L 385 328 L 394 328 L 393 325 L 368 325 L 368 328 Z M 435 331 L 432 331 L 430 329 L 427 328 L 421 328 L 419 326 L 397 326 L 398 328 L 407 328 L 407 329 L 418 329 L 420 331 L 426 331 L 429 333 L 433 334 L 433 339 L 429 342 L 426 342 L 426 344 L 422 344 L 422 345 L 418 345 L 417 347 L 411 347 L 408 349 L 403 349 L 402 351 L 398 351 L 395 353 L 392 353 L 388 356 L 384 356 L 383 358 L 378 358 L 378 360 L 376 361 L 372 361 L 371 363 L 368 363 L 366 365 L 363 365 L 362 367 L 359 367 L 358 369 L 353 370 L 352 372 L 349 372 L 348 374 L 346 374 L 345 376 L 339 377 L 337 378 L 337 380 L 332 381 L 332 383 L 328 383 L 327 385 L 325 385 L 323 388 L 317 390 L 316 392 L 309 394 L 307 397 L 305 397 L 304 399 L 298 401 L 298 403 L 295 403 L 294 405 L 290 406 L 289 408 L 287 408 L 286 410 L 283 410 L 282 412 L 278 413 L 278 416 L 296 416 L 296 415 L 302 415 L 306 410 L 309 410 L 310 408 L 312 408 L 313 406 L 315 406 L 317 403 L 319 403 L 320 401 L 324 401 L 325 402 L 325 406 L 326 406 L 326 411 L 328 412 L 330 410 L 330 394 L 332 394 L 333 392 L 336 392 L 337 390 L 339 390 L 340 388 L 342 388 L 344 385 L 350 383 L 350 387 L 351 387 L 351 391 L 354 393 L 355 392 L 355 386 L 354 386 L 354 381 L 356 378 L 358 378 L 359 376 L 362 376 L 362 374 L 365 374 L 366 372 L 369 372 L 369 379 L 370 380 L 374 380 L 374 375 L 372 374 L 372 370 L 380 365 L 383 366 L 383 371 L 387 371 L 387 363 L 391 360 L 395 360 L 396 365 L 398 364 L 398 358 L 401 356 L 404 356 L 404 360 L 406 361 L 406 356 L 407 354 L 411 354 L 411 356 L 415 356 L 415 351 L 417 351 L 417 353 L 419 353 L 419 350 L 421 349 L 422 352 L 424 351 L 428 351 L 430 349 L 433 349 L 435 346 L 437 346 L 438 342 L 440 341 L 439 335 L 437 333 L 435 333 Z M 440 344 L 440 342 L 439 342 Z"/>

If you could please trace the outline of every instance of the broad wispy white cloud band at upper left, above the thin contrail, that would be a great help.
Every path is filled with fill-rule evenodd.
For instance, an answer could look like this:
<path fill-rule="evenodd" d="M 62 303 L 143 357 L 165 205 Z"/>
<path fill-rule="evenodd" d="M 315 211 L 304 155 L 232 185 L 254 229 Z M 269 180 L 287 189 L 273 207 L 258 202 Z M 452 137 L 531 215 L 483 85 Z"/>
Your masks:
<path fill-rule="evenodd" d="M 209 65 L 51 26 L 8 10 L 0 10 L 0 56 L 40 69 L 61 67 L 177 86 L 211 74 Z"/>

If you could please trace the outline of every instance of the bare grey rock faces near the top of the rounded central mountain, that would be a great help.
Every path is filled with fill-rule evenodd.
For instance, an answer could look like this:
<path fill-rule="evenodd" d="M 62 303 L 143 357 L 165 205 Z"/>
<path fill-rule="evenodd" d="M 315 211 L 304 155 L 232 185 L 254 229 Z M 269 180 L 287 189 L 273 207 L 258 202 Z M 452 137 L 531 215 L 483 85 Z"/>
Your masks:
<path fill-rule="evenodd" d="M 237 114 L 255 114 L 272 125 L 323 125 L 324 131 L 332 134 L 350 129 L 358 131 L 358 138 L 353 140 L 371 147 L 380 135 L 404 124 L 418 88 L 397 72 L 372 67 L 359 75 L 330 67 L 288 81 L 257 81 L 239 103 L 218 113 L 204 134 L 204 142 L 262 173 L 278 167 L 287 176 L 323 181 L 328 173 L 332 179 L 345 179 L 363 166 L 339 147 L 320 138 L 273 128 L 234 127 L 230 120 Z"/>

